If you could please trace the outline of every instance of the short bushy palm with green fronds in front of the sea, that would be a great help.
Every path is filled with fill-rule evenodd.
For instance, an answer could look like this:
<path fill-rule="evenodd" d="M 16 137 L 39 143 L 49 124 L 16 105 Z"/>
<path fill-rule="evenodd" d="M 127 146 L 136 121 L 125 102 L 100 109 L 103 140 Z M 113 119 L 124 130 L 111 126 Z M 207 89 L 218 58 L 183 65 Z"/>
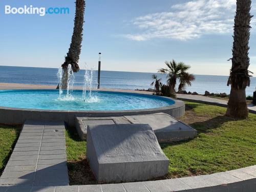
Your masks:
<path fill-rule="evenodd" d="M 186 86 L 191 86 L 191 81 L 195 80 L 195 76 L 193 74 L 189 74 L 187 72 L 190 69 L 190 66 L 185 65 L 184 62 L 176 62 L 174 59 L 170 62 L 165 61 L 166 69 L 162 68 L 158 70 L 159 73 L 167 74 L 167 86 L 169 88 L 169 93 L 175 93 L 175 86 L 177 80 L 179 79 L 179 87 L 178 90 L 182 91 Z"/>

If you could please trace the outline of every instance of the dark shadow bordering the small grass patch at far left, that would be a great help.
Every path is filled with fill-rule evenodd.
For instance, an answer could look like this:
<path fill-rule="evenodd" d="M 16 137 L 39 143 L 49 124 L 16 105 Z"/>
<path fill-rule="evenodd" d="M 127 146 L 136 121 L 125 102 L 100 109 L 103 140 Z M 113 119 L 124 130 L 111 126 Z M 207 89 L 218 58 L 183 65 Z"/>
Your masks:
<path fill-rule="evenodd" d="M 9 160 L 11 154 L 12 154 L 12 151 L 13 151 L 13 149 L 15 147 L 15 144 L 16 144 L 16 142 L 18 140 L 19 133 L 20 133 L 20 131 L 22 131 L 22 125 L 15 125 L 15 126 L 13 126 L 13 125 L 0 124 L 0 127 L 1 127 L 1 129 L 15 129 L 16 130 L 16 138 L 15 138 L 14 142 L 11 145 L 11 150 L 8 153 L 8 155 L 2 160 L 3 167 L 0 168 L 0 176 L 1 176 L 3 171 L 4 171 L 4 169 L 5 169 L 5 166 L 6 166 L 7 162 L 8 162 L 8 160 Z M 6 139 L 9 139 L 9 138 L 6 138 Z"/>

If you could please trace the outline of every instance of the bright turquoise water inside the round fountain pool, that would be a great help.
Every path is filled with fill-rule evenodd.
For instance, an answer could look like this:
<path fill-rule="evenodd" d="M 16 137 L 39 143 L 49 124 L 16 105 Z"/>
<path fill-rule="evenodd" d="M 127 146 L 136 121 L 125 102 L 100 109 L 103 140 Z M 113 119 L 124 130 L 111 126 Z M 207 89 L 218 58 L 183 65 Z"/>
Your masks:
<path fill-rule="evenodd" d="M 160 108 L 174 100 L 154 95 L 93 91 L 82 99 L 82 91 L 74 90 L 66 97 L 58 90 L 1 90 L 0 106 L 39 110 L 113 111 Z"/>

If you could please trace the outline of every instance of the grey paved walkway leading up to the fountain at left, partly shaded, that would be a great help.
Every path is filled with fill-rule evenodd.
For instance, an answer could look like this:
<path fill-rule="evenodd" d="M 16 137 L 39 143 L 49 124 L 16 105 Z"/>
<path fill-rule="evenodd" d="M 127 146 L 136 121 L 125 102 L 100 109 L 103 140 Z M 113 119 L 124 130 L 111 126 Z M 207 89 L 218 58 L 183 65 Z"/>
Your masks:
<path fill-rule="evenodd" d="M 66 163 L 64 122 L 27 120 L 0 185 L 69 185 Z"/>

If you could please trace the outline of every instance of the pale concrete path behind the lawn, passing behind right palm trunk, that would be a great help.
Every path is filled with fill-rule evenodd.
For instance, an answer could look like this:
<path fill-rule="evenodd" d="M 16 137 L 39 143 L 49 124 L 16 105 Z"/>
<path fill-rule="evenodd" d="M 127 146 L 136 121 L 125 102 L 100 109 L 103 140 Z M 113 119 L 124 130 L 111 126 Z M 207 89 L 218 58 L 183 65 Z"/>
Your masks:
<path fill-rule="evenodd" d="M 187 101 L 200 102 L 205 104 L 215 104 L 219 106 L 227 106 L 227 101 L 223 99 L 216 99 L 211 97 L 205 97 L 202 95 L 185 95 L 185 94 L 177 94 L 177 99 L 183 99 Z M 256 113 L 256 105 L 249 104 L 248 109 L 250 113 Z"/>

